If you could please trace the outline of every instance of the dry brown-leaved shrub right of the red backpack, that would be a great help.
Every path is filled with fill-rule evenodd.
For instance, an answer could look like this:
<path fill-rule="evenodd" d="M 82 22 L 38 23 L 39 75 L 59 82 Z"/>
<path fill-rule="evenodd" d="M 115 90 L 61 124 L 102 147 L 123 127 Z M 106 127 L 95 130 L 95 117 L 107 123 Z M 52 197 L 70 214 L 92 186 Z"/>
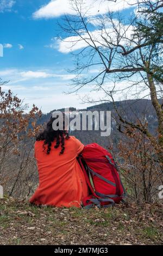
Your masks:
<path fill-rule="evenodd" d="M 129 198 L 141 203 L 157 200 L 163 184 L 158 144 L 136 129 L 128 127 L 124 133 L 118 157 Z"/>

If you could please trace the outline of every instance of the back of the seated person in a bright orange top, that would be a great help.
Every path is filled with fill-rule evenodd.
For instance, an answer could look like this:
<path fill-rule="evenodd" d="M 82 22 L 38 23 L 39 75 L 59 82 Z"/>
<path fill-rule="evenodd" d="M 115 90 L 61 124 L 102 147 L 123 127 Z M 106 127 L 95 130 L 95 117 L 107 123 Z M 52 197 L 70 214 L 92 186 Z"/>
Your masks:
<path fill-rule="evenodd" d="M 66 132 L 52 133 L 56 134 L 55 139 L 48 136 L 51 139 L 47 141 L 41 133 L 35 143 L 39 187 L 30 198 L 30 203 L 80 208 L 82 199 L 88 195 L 85 177 L 77 161 L 84 145 Z"/>

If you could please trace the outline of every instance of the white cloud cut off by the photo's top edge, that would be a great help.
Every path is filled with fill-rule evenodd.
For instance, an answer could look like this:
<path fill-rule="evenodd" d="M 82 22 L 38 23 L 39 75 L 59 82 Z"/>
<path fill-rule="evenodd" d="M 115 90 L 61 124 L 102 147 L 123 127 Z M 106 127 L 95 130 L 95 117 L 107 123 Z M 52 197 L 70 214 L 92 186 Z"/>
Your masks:
<path fill-rule="evenodd" d="M 81 1 L 79 1 L 81 2 Z M 73 1 L 70 0 L 52 0 L 48 4 L 43 5 L 39 10 L 33 13 L 34 19 L 52 19 L 64 14 L 76 14 L 72 8 Z M 102 0 L 83 0 L 82 10 L 85 13 L 87 10 L 88 16 L 105 14 L 110 11 L 118 11 L 130 8 L 129 4 L 136 3 L 136 0 L 117 0 L 116 2 Z M 91 8 L 90 8 L 91 7 Z"/>

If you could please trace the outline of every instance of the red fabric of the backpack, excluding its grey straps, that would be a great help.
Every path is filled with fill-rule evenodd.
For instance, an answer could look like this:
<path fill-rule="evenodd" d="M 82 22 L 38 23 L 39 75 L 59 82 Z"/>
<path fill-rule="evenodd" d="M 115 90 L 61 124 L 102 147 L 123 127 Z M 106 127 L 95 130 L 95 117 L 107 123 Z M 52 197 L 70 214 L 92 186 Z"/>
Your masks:
<path fill-rule="evenodd" d="M 105 156 L 109 156 L 111 162 L 114 163 L 112 159 L 112 155 L 102 148 L 100 145 L 96 143 L 92 143 L 86 145 L 82 151 L 82 157 L 86 162 L 87 166 L 89 166 L 94 172 L 98 173 L 99 175 L 103 176 L 105 179 L 114 182 L 116 186 L 112 186 L 108 184 L 106 181 L 98 178 L 96 175 L 92 176 L 93 184 L 95 186 L 95 191 L 102 193 L 102 194 L 117 194 L 117 198 L 111 198 L 118 203 L 122 200 L 123 188 L 120 182 L 120 176 L 117 172 L 117 169 L 109 163 L 108 159 Z M 85 178 L 87 180 L 87 185 L 90 187 L 92 195 L 98 198 L 98 196 L 93 192 L 92 187 L 90 186 L 89 177 L 87 176 L 86 172 L 84 171 Z M 100 197 L 99 197 L 100 198 Z M 90 199 L 86 197 L 84 199 L 84 204 L 86 205 L 86 200 Z M 102 203 L 107 204 L 107 203 Z"/>

